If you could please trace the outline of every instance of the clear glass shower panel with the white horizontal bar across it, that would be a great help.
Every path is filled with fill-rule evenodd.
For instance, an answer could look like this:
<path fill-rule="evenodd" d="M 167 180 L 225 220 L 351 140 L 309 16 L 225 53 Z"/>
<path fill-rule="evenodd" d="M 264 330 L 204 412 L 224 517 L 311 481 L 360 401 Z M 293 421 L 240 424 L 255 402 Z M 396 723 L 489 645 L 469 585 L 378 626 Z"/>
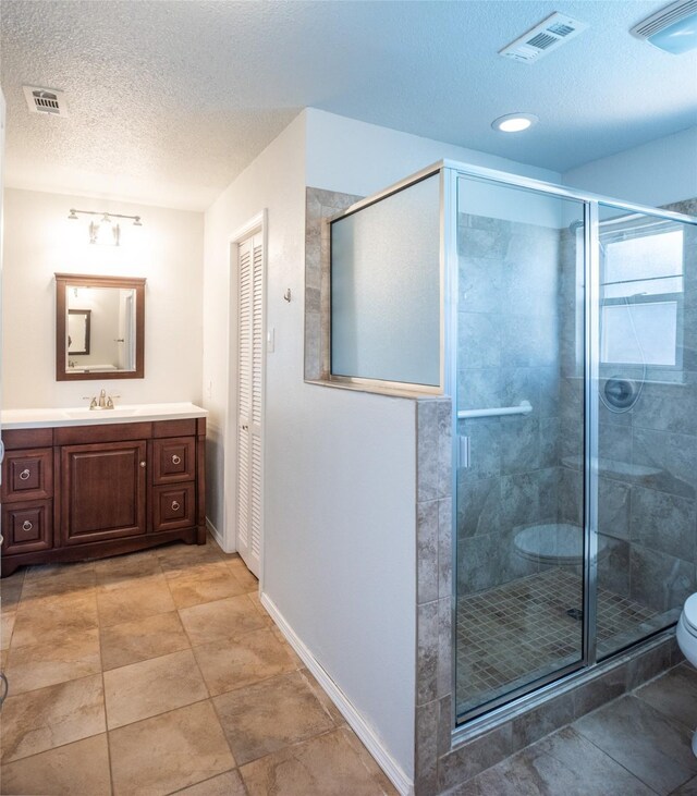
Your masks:
<path fill-rule="evenodd" d="M 458 180 L 460 718 L 583 661 L 584 210 Z"/>

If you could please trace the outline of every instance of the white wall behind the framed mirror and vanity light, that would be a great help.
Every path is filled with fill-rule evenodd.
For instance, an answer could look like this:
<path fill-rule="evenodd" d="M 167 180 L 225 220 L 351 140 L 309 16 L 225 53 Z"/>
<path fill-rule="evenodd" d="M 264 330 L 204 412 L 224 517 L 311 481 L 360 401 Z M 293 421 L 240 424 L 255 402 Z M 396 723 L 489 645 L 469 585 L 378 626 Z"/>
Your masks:
<path fill-rule="evenodd" d="M 121 246 L 94 246 L 71 207 L 143 226 L 126 221 Z M 7 188 L 3 252 L 3 408 L 80 406 L 102 385 L 118 403 L 200 404 L 203 213 Z M 147 279 L 144 379 L 56 381 L 54 272 Z"/>

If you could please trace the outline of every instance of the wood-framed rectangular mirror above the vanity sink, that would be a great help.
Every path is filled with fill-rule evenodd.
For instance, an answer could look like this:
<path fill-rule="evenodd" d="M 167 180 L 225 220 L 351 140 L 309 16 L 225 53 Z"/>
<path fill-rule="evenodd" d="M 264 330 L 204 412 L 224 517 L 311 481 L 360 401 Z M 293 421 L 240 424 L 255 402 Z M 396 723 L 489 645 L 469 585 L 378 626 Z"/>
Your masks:
<path fill-rule="evenodd" d="M 56 379 L 142 379 L 145 279 L 56 274 Z"/>

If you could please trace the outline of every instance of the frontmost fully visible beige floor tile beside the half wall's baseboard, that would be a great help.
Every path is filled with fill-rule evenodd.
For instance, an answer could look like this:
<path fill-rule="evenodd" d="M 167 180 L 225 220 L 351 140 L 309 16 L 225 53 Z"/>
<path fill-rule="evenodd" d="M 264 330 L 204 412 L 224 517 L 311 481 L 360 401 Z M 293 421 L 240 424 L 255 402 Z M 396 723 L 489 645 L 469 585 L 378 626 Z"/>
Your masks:
<path fill-rule="evenodd" d="M 298 672 L 228 691 L 213 705 L 240 764 L 334 727 Z"/>

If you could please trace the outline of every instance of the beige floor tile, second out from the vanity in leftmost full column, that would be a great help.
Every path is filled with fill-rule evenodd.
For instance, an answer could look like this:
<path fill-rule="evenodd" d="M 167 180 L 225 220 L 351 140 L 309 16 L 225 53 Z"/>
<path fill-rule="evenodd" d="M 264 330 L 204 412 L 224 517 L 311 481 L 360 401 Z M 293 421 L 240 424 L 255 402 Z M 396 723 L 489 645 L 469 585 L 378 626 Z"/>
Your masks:
<path fill-rule="evenodd" d="M 94 589 L 77 595 L 22 600 L 12 634 L 13 647 L 61 644 L 97 627 L 97 597 Z"/>

